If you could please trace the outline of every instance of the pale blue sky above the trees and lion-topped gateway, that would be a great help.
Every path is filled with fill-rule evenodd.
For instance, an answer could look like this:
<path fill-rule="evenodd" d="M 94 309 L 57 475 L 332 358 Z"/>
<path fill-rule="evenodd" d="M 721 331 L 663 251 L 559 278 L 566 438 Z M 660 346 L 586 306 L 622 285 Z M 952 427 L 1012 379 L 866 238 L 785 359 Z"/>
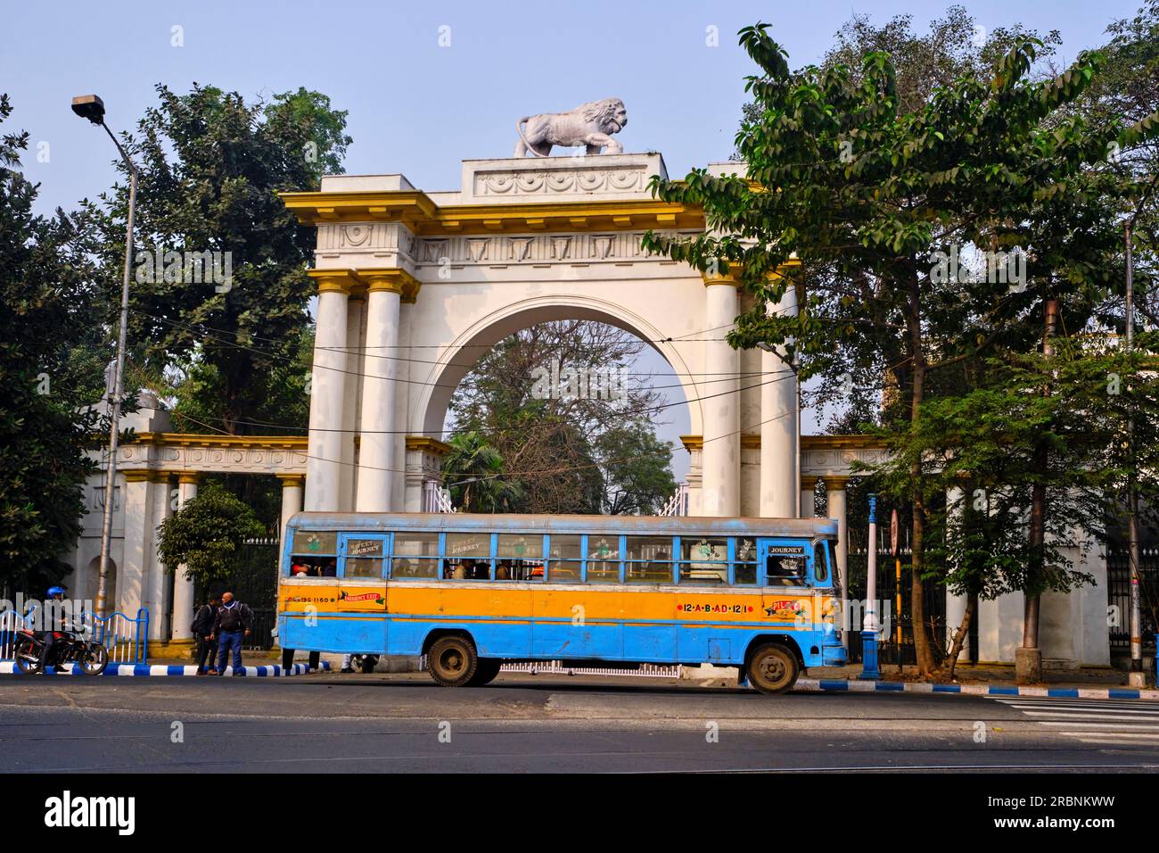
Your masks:
<path fill-rule="evenodd" d="M 1062 59 L 1101 44 L 1107 24 L 1142 0 L 969 0 L 987 30 L 1021 22 L 1063 36 Z M 949 3 L 895 0 L 717 3 L 630 2 L 14 2 L 0 27 L 0 88 L 27 129 L 25 174 L 41 182 L 38 209 L 71 209 L 114 180 L 111 143 L 68 109 L 95 92 L 116 130 L 155 103 L 153 86 L 194 82 L 247 97 L 296 89 L 328 94 L 349 110 L 351 174 L 402 172 L 428 190 L 454 189 L 459 161 L 510 157 L 520 115 L 622 97 L 627 151 L 656 150 L 669 173 L 728 159 L 752 72 L 736 31 L 758 20 L 789 51 L 815 63 L 854 12 L 883 23 L 912 13 L 918 31 Z M 173 46 L 173 28 L 183 46 Z M 450 46 L 439 46 L 449 27 Z M 715 27 L 719 46 L 706 44 Z M 447 30 L 442 30 L 445 36 Z M 37 144 L 49 161 L 37 162 Z M 648 356 L 640 371 L 666 368 Z M 662 377 L 656 384 L 671 384 Z M 683 406 L 661 435 L 687 432 Z M 807 412 L 804 432 L 818 432 Z M 687 456 L 673 456 L 678 476 Z"/>

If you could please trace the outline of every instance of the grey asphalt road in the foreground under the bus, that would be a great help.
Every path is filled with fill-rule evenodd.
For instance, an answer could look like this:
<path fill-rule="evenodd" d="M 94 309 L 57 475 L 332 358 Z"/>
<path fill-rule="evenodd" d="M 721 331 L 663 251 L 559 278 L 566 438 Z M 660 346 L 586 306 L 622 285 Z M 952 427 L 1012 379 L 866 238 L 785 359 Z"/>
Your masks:
<path fill-rule="evenodd" d="M 2 772 L 1159 769 L 1138 701 L 503 675 L 0 675 Z"/>

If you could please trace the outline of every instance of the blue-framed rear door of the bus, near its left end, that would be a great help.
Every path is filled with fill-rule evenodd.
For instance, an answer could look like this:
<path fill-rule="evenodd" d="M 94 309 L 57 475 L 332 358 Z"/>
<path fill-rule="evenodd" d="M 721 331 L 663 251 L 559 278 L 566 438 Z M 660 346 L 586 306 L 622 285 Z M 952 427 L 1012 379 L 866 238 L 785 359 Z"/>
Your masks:
<path fill-rule="evenodd" d="M 386 651 L 386 555 L 388 533 L 344 533 L 338 537 L 338 588 L 334 608 L 338 635 L 350 652 Z"/>

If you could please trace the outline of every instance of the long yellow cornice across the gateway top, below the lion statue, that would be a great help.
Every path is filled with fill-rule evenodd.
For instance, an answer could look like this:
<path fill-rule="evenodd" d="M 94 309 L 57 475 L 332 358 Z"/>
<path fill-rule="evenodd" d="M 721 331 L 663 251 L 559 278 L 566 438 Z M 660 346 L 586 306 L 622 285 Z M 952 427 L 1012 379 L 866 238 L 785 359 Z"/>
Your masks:
<path fill-rule="evenodd" d="M 286 209 L 304 225 L 334 222 L 401 222 L 417 234 L 502 231 L 704 230 L 699 207 L 655 198 L 636 201 L 447 204 L 421 191 L 280 193 Z"/>

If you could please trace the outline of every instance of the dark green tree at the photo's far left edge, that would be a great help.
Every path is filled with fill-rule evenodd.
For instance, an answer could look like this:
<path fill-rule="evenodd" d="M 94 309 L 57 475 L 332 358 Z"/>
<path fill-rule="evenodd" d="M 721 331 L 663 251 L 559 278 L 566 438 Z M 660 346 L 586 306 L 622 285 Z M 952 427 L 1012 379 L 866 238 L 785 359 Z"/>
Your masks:
<path fill-rule="evenodd" d="M 0 123 L 10 114 L 0 95 Z M 85 450 L 108 422 L 89 404 L 110 352 L 83 222 L 32 214 L 27 149 L 27 132 L 0 137 L 0 585 L 39 594 L 67 573 L 60 555 L 80 533 L 96 469 Z"/>

